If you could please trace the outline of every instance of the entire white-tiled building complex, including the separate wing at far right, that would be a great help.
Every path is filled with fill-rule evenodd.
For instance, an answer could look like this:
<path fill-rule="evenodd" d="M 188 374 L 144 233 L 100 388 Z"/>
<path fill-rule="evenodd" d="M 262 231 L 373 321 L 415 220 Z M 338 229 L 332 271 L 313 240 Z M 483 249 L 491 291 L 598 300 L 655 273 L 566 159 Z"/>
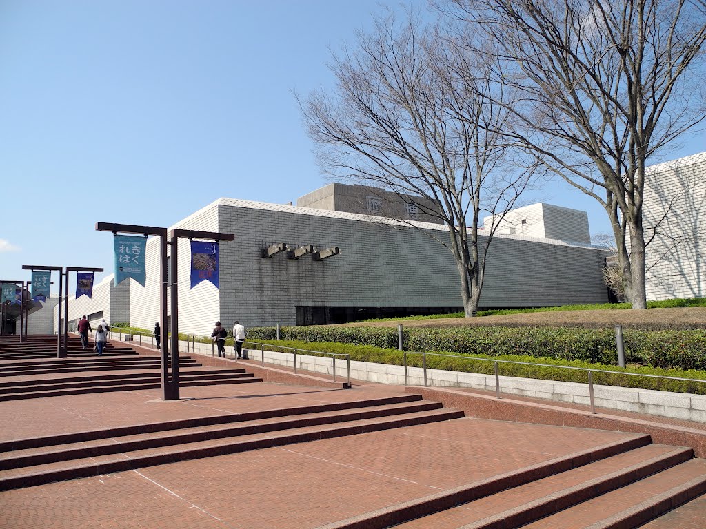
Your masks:
<path fill-rule="evenodd" d="M 649 171 L 647 298 L 704 296 L 706 152 Z M 410 208 L 415 200 L 330 184 L 297 206 L 221 198 L 203 207 L 172 227 L 232 232 L 236 240 L 220 248 L 220 290 L 208 282 L 189 288 L 189 243 L 179 241 L 181 332 L 206 334 L 216 320 L 252 327 L 460 310 L 457 268 L 440 243 L 448 231 Z M 158 255 L 157 240 L 148 241 L 145 287 L 132 280 L 115 286 L 109 276 L 92 300 L 71 300 L 69 320 L 86 314 L 151 329 L 159 320 Z M 606 255 L 590 245 L 585 212 L 517 208 L 491 245 L 481 307 L 604 303 Z"/>

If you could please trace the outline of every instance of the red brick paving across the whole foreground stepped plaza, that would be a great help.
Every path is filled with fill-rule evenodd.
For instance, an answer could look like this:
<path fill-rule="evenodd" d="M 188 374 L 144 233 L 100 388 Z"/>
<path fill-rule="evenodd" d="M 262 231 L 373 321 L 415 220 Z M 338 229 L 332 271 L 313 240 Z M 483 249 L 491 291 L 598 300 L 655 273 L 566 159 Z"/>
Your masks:
<path fill-rule="evenodd" d="M 249 365 L 231 360 L 222 363 Z M 16 382 L 16 378 L 6 380 Z M 35 486 L 8 485 L 0 492 L 0 527 L 335 529 L 390 527 L 400 522 L 400 528 L 417 529 L 706 527 L 706 496 L 699 496 L 702 493 L 653 521 L 592 525 L 597 513 L 619 518 L 626 508 L 659 499 L 666 490 L 701 486 L 693 484 L 703 481 L 706 460 L 692 458 L 693 451 L 688 448 L 650 442 L 650 437 L 641 432 L 460 415 L 450 420 L 386 425 L 386 415 L 392 412 L 381 411 L 371 418 L 356 415 L 347 423 L 365 423 L 367 430 L 364 426 L 363 430 L 326 438 L 326 429 L 337 426 L 316 422 L 317 417 L 330 413 L 323 411 L 325 406 L 344 410 L 340 413 L 357 413 L 345 409 L 358 401 L 409 399 L 414 392 L 415 388 L 405 391 L 404 387 L 377 384 L 357 383 L 353 389 L 335 389 L 261 382 L 184 387 L 181 396 L 186 399 L 172 402 L 160 401 L 159 389 L 0 401 L 0 444 L 5 447 L 0 454 L 0 482 L 26 473 L 23 468 L 7 468 L 11 458 L 41 457 L 57 450 L 42 442 L 8 448 L 17 439 L 64 434 L 68 439 L 64 449 L 83 449 L 88 454 L 73 461 L 40 461 L 33 467 L 37 472 L 103 461 L 129 464 L 164 448 L 118 449 L 93 456 L 90 450 L 99 444 L 121 443 L 124 439 L 116 434 L 107 439 L 80 440 L 71 434 L 178 423 L 180 429 L 167 430 L 168 437 L 169 431 L 173 435 L 184 432 L 183 423 L 188 420 L 249 413 L 253 420 L 242 424 L 254 428 L 282 422 L 285 418 L 278 415 L 287 415 L 287 410 L 313 410 L 306 418 L 297 419 L 296 427 L 286 430 L 309 436 L 305 442 L 297 442 L 304 437 L 286 439 L 286 432 L 248 430 L 225 445 L 249 439 L 277 441 L 263 444 L 264 448 L 249 445 L 236 453 L 135 465 L 130 470 Z M 434 400 L 431 396 L 424 399 Z M 512 401 L 504 400 L 503 405 L 510 406 Z M 385 406 L 366 409 L 382 408 Z M 419 411 L 415 416 L 428 418 L 441 411 Z M 203 432 L 221 427 L 204 427 Z M 127 436 L 132 441 L 152 436 L 146 427 L 144 431 L 140 427 L 133 430 Z M 225 446 L 221 438 L 204 438 L 179 444 L 178 449 L 197 444 Z M 623 445 L 627 448 L 618 449 Z M 659 468 L 652 468 L 654 465 Z M 656 471 L 661 472 L 659 479 L 648 477 Z M 644 475 L 645 479 L 623 483 L 626 478 L 621 476 L 628 474 Z M 532 479 L 528 480 L 530 475 Z M 605 483 L 613 479 L 620 481 L 618 486 L 622 488 L 611 492 L 616 485 Z M 606 487 L 606 494 L 587 497 L 587 501 L 559 509 L 550 518 L 535 516 L 534 521 L 528 518 L 522 523 L 513 522 L 525 516 L 517 513 L 525 512 L 527 506 L 547 504 L 547 498 L 556 503 L 557 498 L 581 496 L 601 487 Z M 626 504 L 626 494 L 635 500 L 633 504 Z M 458 499 L 453 499 L 454 495 Z M 469 497 L 477 499 L 467 503 Z M 443 507 L 424 511 L 431 513 L 429 516 L 409 515 L 435 502 Z M 397 513 L 405 509 L 407 513 L 400 518 Z"/>

